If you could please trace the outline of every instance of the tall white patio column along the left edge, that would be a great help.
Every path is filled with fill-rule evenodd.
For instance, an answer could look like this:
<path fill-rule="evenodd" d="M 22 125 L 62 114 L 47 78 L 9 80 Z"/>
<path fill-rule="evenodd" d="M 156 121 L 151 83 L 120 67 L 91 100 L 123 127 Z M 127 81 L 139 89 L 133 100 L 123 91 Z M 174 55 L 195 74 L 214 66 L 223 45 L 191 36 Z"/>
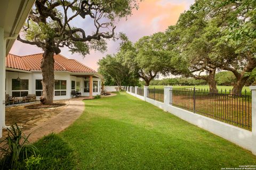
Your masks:
<path fill-rule="evenodd" d="M 0 28 L 0 137 L 5 128 L 5 55 L 4 29 Z"/>

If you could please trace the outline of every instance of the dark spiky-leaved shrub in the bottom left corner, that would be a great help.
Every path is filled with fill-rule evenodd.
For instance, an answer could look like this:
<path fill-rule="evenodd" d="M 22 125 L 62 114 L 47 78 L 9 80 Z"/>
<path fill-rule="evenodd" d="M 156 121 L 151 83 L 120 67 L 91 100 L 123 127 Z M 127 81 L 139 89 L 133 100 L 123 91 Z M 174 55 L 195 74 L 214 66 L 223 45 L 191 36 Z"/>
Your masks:
<path fill-rule="evenodd" d="M 1 166 L 2 169 L 20 169 L 24 160 L 28 159 L 30 155 L 36 156 L 38 151 L 34 145 L 31 145 L 26 135 L 22 135 L 17 124 L 7 128 L 8 134 L 1 140 Z"/>

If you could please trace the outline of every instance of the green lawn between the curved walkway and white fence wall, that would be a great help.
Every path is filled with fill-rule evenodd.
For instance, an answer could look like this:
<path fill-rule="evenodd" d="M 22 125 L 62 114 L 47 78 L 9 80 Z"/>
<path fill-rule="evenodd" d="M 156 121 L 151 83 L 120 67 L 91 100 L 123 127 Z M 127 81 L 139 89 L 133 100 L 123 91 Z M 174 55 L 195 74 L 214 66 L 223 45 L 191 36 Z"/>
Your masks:
<path fill-rule="evenodd" d="M 221 169 L 256 165 L 251 152 L 125 92 L 84 103 L 81 117 L 58 134 L 77 155 L 78 169 Z M 58 152 L 55 145 L 44 148 Z"/>

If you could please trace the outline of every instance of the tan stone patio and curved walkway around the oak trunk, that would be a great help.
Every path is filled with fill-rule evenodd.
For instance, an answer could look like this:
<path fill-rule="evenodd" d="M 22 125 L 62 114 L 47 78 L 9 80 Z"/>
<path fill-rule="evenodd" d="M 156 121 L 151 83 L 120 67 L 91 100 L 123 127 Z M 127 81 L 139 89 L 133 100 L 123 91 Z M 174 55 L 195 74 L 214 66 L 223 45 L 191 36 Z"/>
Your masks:
<path fill-rule="evenodd" d="M 111 92 L 108 96 L 115 96 Z M 6 125 L 18 122 L 23 133 L 30 134 L 29 141 L 35 142 L 50 133 L 59 133 L 72 124 L 84 111 L 82 100 L 88 97 L 78 97 L 70 100 L 57 100 L 55 103 L 66 103 L 65 106 L 45 109 L 26 109 L 24 106 L 6 107 Z M 3 135 L 6 135 L 6 130 Z"/>

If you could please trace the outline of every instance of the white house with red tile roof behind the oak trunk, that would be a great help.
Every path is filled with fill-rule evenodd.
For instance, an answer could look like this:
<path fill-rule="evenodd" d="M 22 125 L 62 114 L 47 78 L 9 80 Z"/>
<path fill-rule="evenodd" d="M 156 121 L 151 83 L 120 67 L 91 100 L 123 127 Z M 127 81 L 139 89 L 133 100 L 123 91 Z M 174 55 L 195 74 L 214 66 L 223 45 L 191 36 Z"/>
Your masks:
<path fill-rule="evenodd" d="M 5 93 L 15 97 L 36 94 L 39 99 L 43 91 L 42 58 L 43 54 L 7 55 Z M 54 61 L 54 100 L 72 98 L 75 91 L 91 98 L 101 94 L 102 76 L 99 73 L 60 54 L 54 55 Z"/>

